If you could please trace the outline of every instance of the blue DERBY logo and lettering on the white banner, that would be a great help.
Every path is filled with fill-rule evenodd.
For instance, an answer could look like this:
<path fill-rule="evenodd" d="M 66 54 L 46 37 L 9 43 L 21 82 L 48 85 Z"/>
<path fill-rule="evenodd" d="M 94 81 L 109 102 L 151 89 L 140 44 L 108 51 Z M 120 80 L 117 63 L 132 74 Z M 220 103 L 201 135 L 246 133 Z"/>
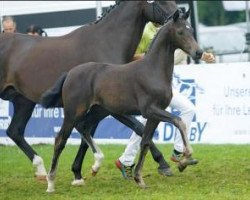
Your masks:
<path fill-rule="evenodd" d="M 196 105 L 197 93 L 203 94 L 204 89 L 195 83 L 194 79 L 181 79 L 179 75 L 174 74 L 173 86 L 183 96 L 187 97 L 194 105 Z M 179 115 L 180 111 L 174 108 L 170 109 L 170 112 Z M 192 142 L 199 142 L 202 140 L 202 134 L 206 129 L 207 122 L 200 122 L 197 119 L 196 114 L 194 115 L 188 134 L 189 140 Z M 164 141 L 170 141 L 174 139 L 176 134 L 176 127 L 170 123 L 164 125 Z"/>

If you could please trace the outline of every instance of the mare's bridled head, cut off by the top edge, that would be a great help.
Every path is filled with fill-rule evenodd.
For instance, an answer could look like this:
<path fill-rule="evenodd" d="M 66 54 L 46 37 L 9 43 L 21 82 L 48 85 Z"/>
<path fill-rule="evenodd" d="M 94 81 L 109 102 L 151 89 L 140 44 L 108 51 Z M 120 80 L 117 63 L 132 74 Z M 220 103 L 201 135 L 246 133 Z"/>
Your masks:
<path fill-rule="evenodd" d="M 177 9 L 175 1 L 139 1 L 145 18 L 159 24 L 164 24 L 166 19 Z"/>

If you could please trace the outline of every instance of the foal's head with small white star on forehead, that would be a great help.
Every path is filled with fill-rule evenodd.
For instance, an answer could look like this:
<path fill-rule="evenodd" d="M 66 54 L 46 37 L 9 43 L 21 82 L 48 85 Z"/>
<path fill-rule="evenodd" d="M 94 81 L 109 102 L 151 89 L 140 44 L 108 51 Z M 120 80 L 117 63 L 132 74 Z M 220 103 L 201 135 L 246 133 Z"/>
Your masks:
<path fill-rule="evenodd" d="M 171 17 L 172 20 L 169 23 L 170 27 L 170 38 L 174 48 L 180 48 L 189 54 L 193 59 L 200 59 L 203 51 L 200 49 L 197 41 L 193 36 L 193 28 L 190 23 L 186 20 L 189 17 L 190 10 L 187 12 L 176 12 Z"/>

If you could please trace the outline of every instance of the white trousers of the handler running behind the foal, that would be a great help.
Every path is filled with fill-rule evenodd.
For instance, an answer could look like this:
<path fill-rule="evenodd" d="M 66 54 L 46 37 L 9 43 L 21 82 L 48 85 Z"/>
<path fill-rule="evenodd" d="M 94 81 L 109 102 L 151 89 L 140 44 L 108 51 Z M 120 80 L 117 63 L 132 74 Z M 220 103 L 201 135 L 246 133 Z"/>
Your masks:
<path fill-rule="evenodd" d="M 195 114 L 194 105 L 177 90 L 173 89 L 173 98 L 169 104 L 171 108 L 177 109 L 180 112 L 180 117 L 187 126 L 189 133 L 190 125 Z M 144 125 L 146 124 L 146 119 L 141 117 L 140 122 Z M 134 164 L 137 152 L 140 149 L 141 137 L 138 136 L 135 132 L 132 133 L 129 143 L 123 152 L 122 156 L 119 158 L 122 164 L 126 166 L 131 166 Z M 174 149 L 183 152 L 184 145 L 181 138 L 180 131 L 176 129 L 176 135 L 174 138 Z"/>

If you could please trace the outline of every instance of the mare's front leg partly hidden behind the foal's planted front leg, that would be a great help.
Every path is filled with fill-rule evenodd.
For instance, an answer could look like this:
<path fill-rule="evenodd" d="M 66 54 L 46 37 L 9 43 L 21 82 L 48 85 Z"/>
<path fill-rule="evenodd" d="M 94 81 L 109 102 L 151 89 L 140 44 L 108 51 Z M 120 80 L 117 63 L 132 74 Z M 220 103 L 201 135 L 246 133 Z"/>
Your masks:
<path fill-rule="evenodd" d="M 118 121 L 120 121 L 121 123 L 131 128 L 133 131 L 135 131 L 137 135 L 142 137 L 144 126 L 135 117 L 130 116 L 130 115 L 118 115 L 118 114 L 112 114 L 112 116 Z M 150 152 L 152 154 L 154 161 L 159 164 L 158 172 L 164 176 L 172 176 L 173 173 L 170 170 L 169 164 L 164 159 L 163 154 L 156 147 L 153 141 L 150 143 L 149 148 L 150 148 Z"/>

